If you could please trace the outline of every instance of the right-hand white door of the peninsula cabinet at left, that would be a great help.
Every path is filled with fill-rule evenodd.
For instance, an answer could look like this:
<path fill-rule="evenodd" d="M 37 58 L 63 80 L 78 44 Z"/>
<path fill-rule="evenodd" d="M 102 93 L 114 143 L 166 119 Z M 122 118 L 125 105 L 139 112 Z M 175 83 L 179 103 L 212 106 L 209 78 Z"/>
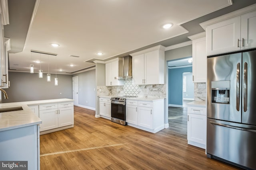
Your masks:
<path fill-rule="evenodd" d="M 58 111 L 58 127 L 74 124 L 74 107 L 62 107 Z"/>

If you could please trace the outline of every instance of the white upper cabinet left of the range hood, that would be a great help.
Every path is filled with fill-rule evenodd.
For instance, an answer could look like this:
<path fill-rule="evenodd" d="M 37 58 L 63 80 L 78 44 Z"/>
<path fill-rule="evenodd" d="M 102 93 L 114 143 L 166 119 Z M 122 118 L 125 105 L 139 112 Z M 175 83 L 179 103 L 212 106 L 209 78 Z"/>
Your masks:
<path fill-rule="evenodd" d="M 119 72 L 122 72 L 122 61 L 122 58 L 117 58 L 105 64 L 106 86 L 124 86 L 124 80 L 115 79 L 119 76 Z"/>

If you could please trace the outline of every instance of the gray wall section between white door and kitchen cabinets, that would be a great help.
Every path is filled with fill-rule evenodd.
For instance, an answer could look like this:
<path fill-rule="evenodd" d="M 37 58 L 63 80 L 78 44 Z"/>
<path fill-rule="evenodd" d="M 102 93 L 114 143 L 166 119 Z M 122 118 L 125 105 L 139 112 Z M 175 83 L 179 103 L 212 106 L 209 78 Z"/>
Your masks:
<path fill-rule="evenodd" d="M 78 105 L 95 108 L 96 78 L 95 69 L 74 74 L 78 76 Z"/>

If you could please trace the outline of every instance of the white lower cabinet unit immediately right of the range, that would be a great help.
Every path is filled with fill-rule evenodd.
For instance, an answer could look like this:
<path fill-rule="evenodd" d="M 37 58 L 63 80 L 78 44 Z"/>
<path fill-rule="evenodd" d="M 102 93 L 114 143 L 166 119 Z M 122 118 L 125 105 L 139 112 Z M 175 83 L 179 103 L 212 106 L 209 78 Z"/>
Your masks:
<path fill-rule="evenodd" d="M 126 122 L 152 133 L 164 129 L 164 99 L 150 102 L 126 100 Z"/>

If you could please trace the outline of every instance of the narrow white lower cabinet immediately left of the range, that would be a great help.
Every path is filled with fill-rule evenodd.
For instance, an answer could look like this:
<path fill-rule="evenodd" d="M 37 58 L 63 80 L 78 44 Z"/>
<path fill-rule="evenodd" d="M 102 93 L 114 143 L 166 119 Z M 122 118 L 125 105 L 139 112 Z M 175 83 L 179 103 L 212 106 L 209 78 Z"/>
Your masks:
<path fill-rule="evenodd" d="M 110 98 L 99 98 L 100 115 L 104 118 L 111 118 L 111 102 Z"/>

